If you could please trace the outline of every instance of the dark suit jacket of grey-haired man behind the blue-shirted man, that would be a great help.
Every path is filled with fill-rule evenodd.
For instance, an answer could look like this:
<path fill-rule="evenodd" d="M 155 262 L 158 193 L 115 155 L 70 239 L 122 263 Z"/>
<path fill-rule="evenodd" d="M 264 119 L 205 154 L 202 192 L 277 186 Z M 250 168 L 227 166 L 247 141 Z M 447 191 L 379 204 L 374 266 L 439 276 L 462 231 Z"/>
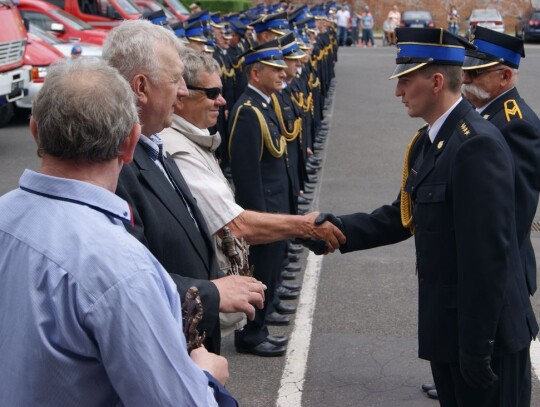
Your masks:
<path fill-rule="evenodd" d="M 132 234 L 171 274 L 182 300 L 189 287 L 199 289 L 204 308 L 199 328 L 210 337 L 207 347 L 219 353 L 219 292 L 208 281 L 218 277 L 210 234 L 178 167 L 172 159 L 165 159 L 165 164 L 190 204 L 200 231 L 178 193 L 140 144 L 133 162 L 122 168 L 116 193 L 133 210 Z"/>

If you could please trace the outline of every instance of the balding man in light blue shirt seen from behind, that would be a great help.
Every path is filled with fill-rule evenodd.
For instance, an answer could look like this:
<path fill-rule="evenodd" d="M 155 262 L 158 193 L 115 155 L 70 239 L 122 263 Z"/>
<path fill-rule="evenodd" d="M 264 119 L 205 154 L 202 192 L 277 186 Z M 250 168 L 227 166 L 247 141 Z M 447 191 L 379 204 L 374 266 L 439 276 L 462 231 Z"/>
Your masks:
<path fill-rule="evenodd" d="M 40 173 L 0 198 L 2 405 L 235 406 L 227 361 L 188 355 L 176 287 L 126 231 L 114 191 L 140 135 L 128 83 L 64 62 L 32 113 Z"/>

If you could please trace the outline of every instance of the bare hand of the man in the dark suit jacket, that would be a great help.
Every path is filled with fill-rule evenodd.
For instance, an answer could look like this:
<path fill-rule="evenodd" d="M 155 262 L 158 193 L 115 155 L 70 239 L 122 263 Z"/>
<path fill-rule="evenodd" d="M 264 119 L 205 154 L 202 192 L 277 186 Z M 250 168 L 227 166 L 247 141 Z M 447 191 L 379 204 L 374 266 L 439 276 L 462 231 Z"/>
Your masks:
<path fill-rule="evenodd" d="M 264 306 L 266 286 L 253 277 L 231 275 L 212 280 L 219 291 L 221 312 L 243 312 L 255 318 L 255 307 Z"/>

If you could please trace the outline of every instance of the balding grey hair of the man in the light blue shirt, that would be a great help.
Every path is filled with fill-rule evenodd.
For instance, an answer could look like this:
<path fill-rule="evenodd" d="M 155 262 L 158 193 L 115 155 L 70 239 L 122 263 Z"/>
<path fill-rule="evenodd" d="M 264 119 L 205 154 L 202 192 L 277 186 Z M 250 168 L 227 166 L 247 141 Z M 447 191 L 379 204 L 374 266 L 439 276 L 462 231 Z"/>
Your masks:
<path fill-rule="evenodd" d="M 52 65 L 32 107 L 38 155 L 94 163 L 117 158 L 138 121 L 135 103 L 127 81 L 105 61 Z"/>

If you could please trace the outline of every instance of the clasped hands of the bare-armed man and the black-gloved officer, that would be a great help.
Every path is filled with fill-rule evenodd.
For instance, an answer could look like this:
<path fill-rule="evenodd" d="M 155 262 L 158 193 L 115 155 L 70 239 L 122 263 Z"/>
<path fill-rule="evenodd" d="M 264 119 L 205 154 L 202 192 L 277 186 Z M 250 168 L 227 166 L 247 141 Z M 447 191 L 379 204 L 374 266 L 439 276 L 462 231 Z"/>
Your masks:
<path fill-rule="evenodd" d="M 343 223 L 338 217 L 331 213 L 311 213 L 306 216 L 316 216 L 313 221 L 314 228 L 309 234 L 310 237 L 297 238 L 297 242 L 317 255 L 332 253 L 345 243 Z M 325 222 L 329 222 L 329 224 L 324 225 Z M 329 231 L 325 231 L 325 229 L 329 229 Z"/>

